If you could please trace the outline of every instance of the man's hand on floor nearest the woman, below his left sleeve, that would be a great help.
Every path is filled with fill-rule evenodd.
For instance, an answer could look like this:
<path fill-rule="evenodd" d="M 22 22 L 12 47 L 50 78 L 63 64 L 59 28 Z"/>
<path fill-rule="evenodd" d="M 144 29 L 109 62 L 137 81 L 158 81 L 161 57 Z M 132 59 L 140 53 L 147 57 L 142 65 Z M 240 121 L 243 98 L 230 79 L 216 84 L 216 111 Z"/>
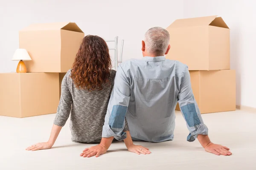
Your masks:
<path fill-rule="evenodd" d="M 85 148 L 83 153 L 80 154 L 82 157 L 90 158 L 92 156 L 99 157 L 100 155 L 107 152 L 107 148 L 104 147 L 102 144 L 98 144 L 97 146 Z"/>

